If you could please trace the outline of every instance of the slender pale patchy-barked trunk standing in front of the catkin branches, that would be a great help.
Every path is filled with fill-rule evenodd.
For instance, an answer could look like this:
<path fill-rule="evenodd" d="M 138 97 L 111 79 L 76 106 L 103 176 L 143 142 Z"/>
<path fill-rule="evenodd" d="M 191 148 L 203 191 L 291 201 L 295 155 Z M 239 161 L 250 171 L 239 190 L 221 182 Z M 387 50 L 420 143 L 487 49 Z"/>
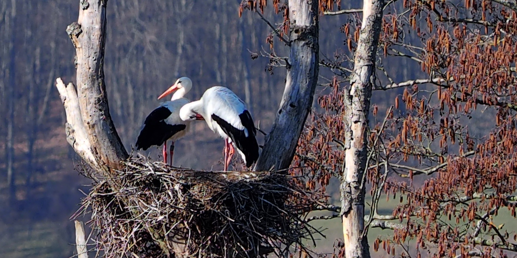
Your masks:
<path fill-rule="evenodd" d="M 345 96 L 347 148 L 341 182 L 341 218 L 346 258 L 370 257 L 364 232 L 364 174 L 367 167 L 367 130 L 375 54 L 383 14 L 383 0 L 364 0 L 363 19 L 354 58 L 353 77 Z"/>

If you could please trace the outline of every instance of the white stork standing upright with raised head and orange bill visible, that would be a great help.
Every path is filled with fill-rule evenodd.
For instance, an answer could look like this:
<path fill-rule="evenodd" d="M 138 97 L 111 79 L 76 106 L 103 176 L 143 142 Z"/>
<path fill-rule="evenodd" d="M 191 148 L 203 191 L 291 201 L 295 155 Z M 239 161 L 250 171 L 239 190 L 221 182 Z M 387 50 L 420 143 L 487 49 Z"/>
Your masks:
<path fill-rule="evenodd" d="M 174 154 L 174 141 L 185 136 L 190 129 L 190 122 L 179 118 L 179 109 L 189 100 L 183 96 L 192 88 L 192 80 L 188 77 L 181 77 L 176 80 L 173 86 L 163 92 L 158 99 L 176 91 L 171 101 L 160 103 L 160 106 L 153 110 L 145 119 L 144 127 L 136 139 L 136 150 L 147 150 L 149 147 L 163 144 L 163 162 L 167 163 L 167 140 L 171 140 L 169 149 L 171 156 Z"/>

